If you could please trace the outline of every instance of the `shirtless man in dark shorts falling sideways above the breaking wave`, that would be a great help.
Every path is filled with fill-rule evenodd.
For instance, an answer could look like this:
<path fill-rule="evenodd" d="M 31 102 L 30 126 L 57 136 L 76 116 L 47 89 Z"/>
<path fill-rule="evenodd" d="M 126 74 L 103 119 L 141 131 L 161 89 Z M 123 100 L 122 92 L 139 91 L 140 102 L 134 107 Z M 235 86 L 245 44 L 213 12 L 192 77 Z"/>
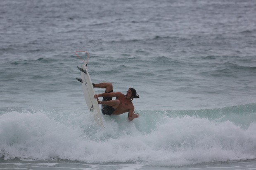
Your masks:
<path fill-rule="evenodd" d="M 104 115 L 121 115 L 128 112 L 128 120 L 130 121 L 139 117 L 139 114 L 135 114 L 132 103 L 133 99 L 139 98 L 135 89 L 129 88 L 126 95 L 124 95 L 121 92 L 113 92 L 112 83 L 93 85 L 94 87 L 105 89 L 105 93 L 94 95 L 94 98 L 102 105 L 102 113 Z M 103 97 L 102 101 L 99 101 L 99 97 Z M 112 97 L 116 97 L 116 100 L 112 100 Z"/>

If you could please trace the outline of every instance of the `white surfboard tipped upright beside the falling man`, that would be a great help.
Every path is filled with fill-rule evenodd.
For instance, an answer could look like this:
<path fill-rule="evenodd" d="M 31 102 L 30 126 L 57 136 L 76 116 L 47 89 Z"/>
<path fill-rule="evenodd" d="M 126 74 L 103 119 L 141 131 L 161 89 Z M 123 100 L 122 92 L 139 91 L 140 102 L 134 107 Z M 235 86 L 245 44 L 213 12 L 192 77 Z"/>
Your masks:
<path fill-rule="evenodd" d="M 83 94 L 85 96 L 86 105 L 90 110 L 90 112 L 92 112 L 92 114 L 94 115 L 96 122 L 98 122 L 101 126 L 104 127 L 102 114 L 100 111 L 98 101 L 97 99 L 94 99 L 95 92 L 92 86 L 92 80 L 90 78 L 90 75 L 87 71 L 85 64 L 82 65 L 82 69 L 84 70 L 84 72 L 81 71 L 81 79 L 83 81 L 82 87 L 83 87 Z"/>

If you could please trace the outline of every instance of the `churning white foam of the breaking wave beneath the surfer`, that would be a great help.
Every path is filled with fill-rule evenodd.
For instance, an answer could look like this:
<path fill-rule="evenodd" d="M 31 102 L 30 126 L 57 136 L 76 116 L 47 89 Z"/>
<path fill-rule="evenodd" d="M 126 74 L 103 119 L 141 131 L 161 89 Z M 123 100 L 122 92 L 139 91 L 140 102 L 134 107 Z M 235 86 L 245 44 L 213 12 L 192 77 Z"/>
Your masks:
<path fill-rule="evenodd" d="M 5 159 L 160 166 L 256 158 L 256 123 L 243 129 L 230 121 L 163 115 L 147 122 L 149 129 L 144 117 L 106 116 L 102 128 L 89 113 L 9 112 L 0 116 L 0 153 Z"/>

